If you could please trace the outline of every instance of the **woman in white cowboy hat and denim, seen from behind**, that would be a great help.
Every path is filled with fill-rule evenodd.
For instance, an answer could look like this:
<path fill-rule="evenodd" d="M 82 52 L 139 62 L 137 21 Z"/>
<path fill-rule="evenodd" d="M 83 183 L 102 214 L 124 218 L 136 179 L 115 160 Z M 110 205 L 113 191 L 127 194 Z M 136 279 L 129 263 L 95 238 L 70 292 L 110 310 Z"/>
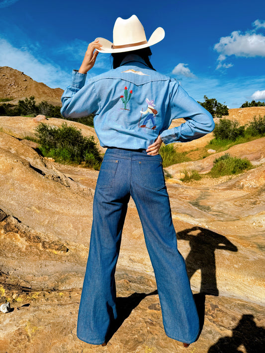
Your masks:
<path fill-rule="evenodd" d="M 72 84 L 62 96 L 62 115 L 78 118 L 93 113 L 100 145 L 108 147 L 94 194 L 77 328 L 78 337 L 94 345 L 106 344 L 117 317 L 114 274 L 130 196 L 142 222 L 166 334 L 188 347 L 199 332 L 185 262 L 177 250 L 159 149 L 162 141 L 198 139 L 211 132 L 214 123 L 175 79 L 153 69 L 149 47 L 164 35 L 159 27 L 147 41 L 135 15 L 117 18 L 113 43 L 97 38 L 88 45 L 80 70 L 73 71 Z M 84 86 L 98 52 L 112 54 L 113 69 Z M 169 130 L 176 118 L 186 122 Z"/>

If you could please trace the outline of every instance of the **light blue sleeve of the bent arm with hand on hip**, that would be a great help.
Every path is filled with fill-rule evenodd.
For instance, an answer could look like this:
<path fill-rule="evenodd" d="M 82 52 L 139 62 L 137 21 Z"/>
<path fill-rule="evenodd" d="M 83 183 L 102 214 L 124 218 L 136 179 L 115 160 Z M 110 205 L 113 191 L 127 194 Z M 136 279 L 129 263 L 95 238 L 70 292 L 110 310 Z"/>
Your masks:
<path fill-rule="evenodd" d="M 199 139 L 214 129 L 214 121 L 211 114 L 199 103 L 191 98 L 178 84 L 171 81 L 171 121 L 183 118 L 185 123 L 172 129 L 164 130 L 160 136 L 165 144 L 172 142 L 187 142 Z"/>

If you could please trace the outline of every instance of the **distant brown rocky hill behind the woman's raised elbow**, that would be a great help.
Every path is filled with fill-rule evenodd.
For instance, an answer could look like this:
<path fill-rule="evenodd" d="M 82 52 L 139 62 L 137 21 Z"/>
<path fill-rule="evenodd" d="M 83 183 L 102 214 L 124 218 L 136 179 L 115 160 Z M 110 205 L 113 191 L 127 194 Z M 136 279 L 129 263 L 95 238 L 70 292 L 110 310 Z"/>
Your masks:
<path fill-rule="evenodd" d="M 23 72 L 0 67 L 0 98 L 13 98 L 11 103 L 17 103 L 19 99 L 34 96 L 36 102 L 46 100 L 54 105 L 61 105 L 61 88 L 50 88 L 42 82 L 34 81 Z"/>

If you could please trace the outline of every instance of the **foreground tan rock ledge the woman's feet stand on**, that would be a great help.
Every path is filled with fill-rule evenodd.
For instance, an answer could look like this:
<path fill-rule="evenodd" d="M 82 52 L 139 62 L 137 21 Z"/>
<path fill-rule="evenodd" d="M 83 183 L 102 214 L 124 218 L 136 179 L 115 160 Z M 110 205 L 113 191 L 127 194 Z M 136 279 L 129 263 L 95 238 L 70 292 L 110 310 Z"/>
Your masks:
<path fill-rule="evenodd" d="M 212 296 L 206 296 L 204 304 L 203 296 L 195 297 L 200 311 L 205 311 L 204 326 L 198 341 L 187 350 L 164 333 L 159 298 L 153 294 L 153 288 L 143 293 L 138 291 L 139 286 L 134 282 L 125 288 L 117 281 L 121 326 L 106 347 L 88 345 L 76 336 L 81 289 L 38 292 L 24 289 L 22 293 L 18 290 L 12 302 L 14 311 L 0 315 L 0 336 L 4 337 L 0 341 L 1 352 L 262 352 L 265 333 L 262 306 Z M 5 294 L 15 291 L 9 289 Z"/>

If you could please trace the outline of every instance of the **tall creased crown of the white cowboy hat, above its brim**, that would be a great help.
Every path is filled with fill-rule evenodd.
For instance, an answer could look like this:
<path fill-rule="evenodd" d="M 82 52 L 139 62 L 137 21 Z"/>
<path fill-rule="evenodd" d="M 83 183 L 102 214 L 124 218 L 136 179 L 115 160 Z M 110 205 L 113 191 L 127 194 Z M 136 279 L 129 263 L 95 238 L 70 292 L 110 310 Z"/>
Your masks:
<path fill-rule="evenodd" d="M 147 42 L 145 30 L 136 15 L 128 19 L 118 17 L 113 28 L 113 45 L 128 45 Z"/>

